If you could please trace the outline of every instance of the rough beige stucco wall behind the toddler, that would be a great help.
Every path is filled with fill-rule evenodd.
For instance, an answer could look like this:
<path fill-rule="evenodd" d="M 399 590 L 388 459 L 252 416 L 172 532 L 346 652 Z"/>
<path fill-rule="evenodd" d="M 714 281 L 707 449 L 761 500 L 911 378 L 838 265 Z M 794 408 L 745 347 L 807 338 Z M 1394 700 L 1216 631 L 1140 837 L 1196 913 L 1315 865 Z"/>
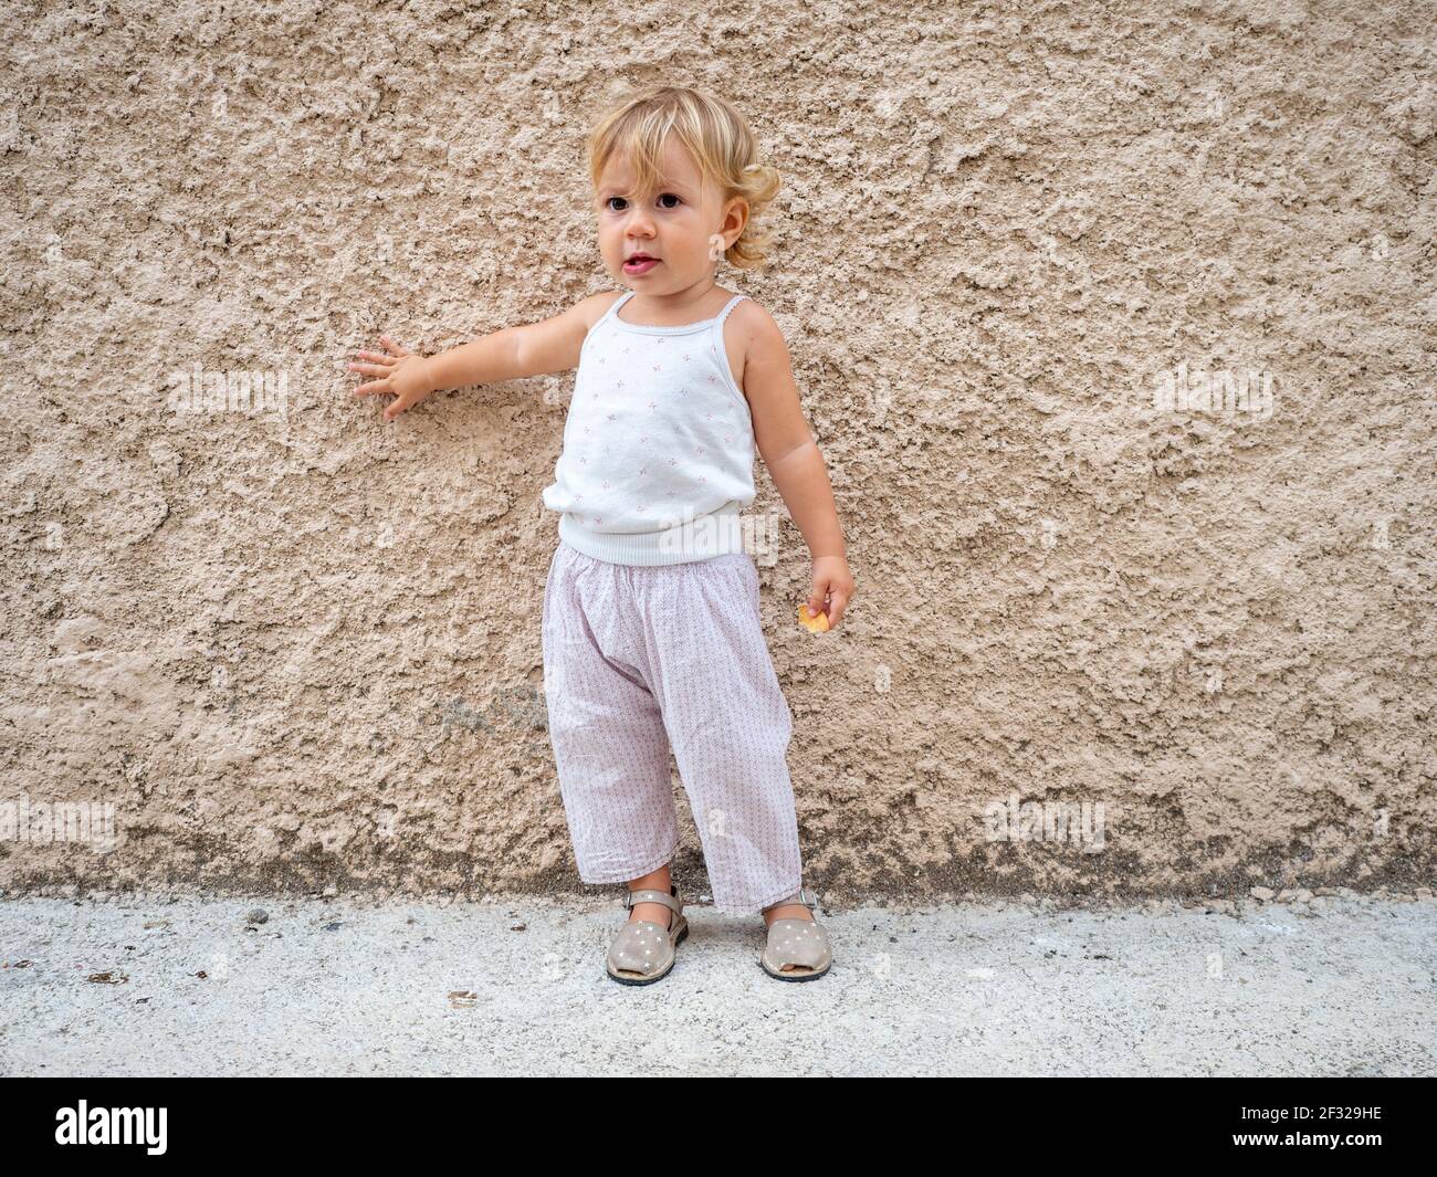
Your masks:
<path fill-rule="evenodd" d="M 775 263 L 720 282 L 787 332 L 858 582 L 798 627 L 760 460 L 808 882 L 1428 884 L 1434 20 L 11 4 L 0 800 L 118 841 L 17 831 L 0 885 L 579 888 L 539 644 L 572 374 L 387 427 L 343 365 L 615 289 L 582 141 L 654 80 L 785 177 Z M 1180 364 L 1270 414 L 1158 407 Z M 274 402 L 180 411 L 175 371 Z M 996 838 L 1010 799 L 1092 836 Z"/>

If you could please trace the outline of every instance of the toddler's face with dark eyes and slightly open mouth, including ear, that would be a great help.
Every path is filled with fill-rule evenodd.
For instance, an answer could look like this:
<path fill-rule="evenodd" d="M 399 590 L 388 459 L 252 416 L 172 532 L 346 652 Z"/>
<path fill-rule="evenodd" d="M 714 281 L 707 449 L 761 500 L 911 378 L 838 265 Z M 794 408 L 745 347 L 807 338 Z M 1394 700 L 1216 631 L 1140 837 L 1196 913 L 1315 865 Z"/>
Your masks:
<path fill-rule="evenodd" d="M 720 203 L 717 185 L 700 183 L 698 165 L 671 138 L 664 145 L 661 181 L 648 194 L 632 193 L 629 161 L 615 155 L 599 177 L 595 197 L 599 216 L 599 253 L 605 269 L 625 286 L 662 296 L 711 279 L 717 259 L 708 253 L 723 237 L 721 254 L 743 231 L 747 206 L 741 197 Z M 657 262 L 627 266 L 635 253 Z"/>

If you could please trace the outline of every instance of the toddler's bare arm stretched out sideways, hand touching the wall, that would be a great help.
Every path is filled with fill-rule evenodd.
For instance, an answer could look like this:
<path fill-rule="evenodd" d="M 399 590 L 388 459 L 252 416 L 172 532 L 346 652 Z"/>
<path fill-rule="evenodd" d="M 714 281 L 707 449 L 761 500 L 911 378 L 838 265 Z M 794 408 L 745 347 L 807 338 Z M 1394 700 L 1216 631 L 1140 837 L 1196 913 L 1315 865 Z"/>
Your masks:
<path fill-rule="evenodd" d="M 394 394 L 397 400 L 384 410 L 384 420 L 392 421 L 441 388 L 566 372 L 579 362 L 583 336 L 614 297 L 612 290 L 591 295 L 552 319 L 504 328 L 431 356 L 415 355 L 388 335 L 381 335 L 379 342 L 388 355 L 356 352 L 362 362 L 349 365 L 352 372 L 375 377 L 368 384 L 358 385 L 354 395 Z"/>

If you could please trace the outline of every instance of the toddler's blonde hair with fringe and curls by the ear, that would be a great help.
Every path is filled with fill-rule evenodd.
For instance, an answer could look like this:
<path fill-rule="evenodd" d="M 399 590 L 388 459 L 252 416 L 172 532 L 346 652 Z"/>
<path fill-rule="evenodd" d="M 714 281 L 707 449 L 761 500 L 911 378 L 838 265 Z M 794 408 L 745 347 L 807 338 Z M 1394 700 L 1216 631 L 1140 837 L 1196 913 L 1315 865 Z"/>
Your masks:
<path fill-rule="evenodd" d="M 770 233 L 759 229 L 759 213 L 779 191 L 779 172 L 759 162 L 759 142 L 733 105 L 687 86 L 654 86 L 625 95 L 589 132 L 589 183 L 599 178 L 615 155 L 627 155 L 638 191 L 658 184 L 658 168 L 670 132 L 694 158 L 704 180 L 713 178 L 721 203 L 743 197 L 749 218 L 724 257 L 739 269 L 753 269 L 767 257 Z"/>

